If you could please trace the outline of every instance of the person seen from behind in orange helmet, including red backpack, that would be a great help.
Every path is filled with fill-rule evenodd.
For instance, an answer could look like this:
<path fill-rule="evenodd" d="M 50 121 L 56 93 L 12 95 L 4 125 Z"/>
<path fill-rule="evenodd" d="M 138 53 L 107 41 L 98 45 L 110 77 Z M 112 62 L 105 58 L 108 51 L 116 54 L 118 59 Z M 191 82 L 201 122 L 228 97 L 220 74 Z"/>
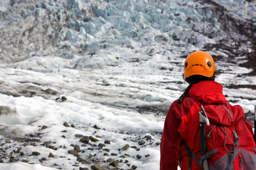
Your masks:
<path fill-rule="evenodd" d="M 207 52 L 196 51 L 186 58 L 184 78 L 189 85 L 184 94 L 172 103 L 166 115 L 160 145 L 160 170 L 177 170 L 178 165 L 182 170 L 205 169 L 200 162 L 201 106 L 204 106 L 206 114 L 209 114 L 211 123 L 207 127 L 209 130 L 206 130 L 206 134 L 211 136 L 206 140 L 211 140 L 214 144 L 207 145 L 207 152 L 212 151 L 207 157 L 210 169 L 236 169 L 236 166 L 239 169 L 244 168 L 246 159 L 242 157 L 244 151 L 238 149 L 239 147 L 247 147 L 246 152 L 250 152 L 250 157 L 252 155 L 252 159 L 256 160 L 252 125 L 249 121 L 246 122 L 246 119 L 239 121 L 244 118 L 243 109 L 226 101 L 223 87 L 214 81 L 215 72 L 214 60 Z M 229 127 L 234 131 L 229 132 Z M 237 154 L 237 157 L 230 156 L 230 153 Z M 225 157 L 227 159 L 223 160 Z M 252 164 L 254 169 L 255 161 Z"/>

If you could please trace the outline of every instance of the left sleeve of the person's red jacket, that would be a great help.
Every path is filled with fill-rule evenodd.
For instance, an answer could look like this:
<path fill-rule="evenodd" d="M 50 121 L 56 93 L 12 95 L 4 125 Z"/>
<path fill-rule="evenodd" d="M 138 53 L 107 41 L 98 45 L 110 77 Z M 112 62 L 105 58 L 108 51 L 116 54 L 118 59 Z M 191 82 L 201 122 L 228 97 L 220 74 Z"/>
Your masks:
<path fill-rule="evenodd" d="M 177 145 L 180 135 L 177 131 L 179 123 L 173 113 L 172 106 L 166 115 L 160 145 L 160 170 L 177 170 Z"/>

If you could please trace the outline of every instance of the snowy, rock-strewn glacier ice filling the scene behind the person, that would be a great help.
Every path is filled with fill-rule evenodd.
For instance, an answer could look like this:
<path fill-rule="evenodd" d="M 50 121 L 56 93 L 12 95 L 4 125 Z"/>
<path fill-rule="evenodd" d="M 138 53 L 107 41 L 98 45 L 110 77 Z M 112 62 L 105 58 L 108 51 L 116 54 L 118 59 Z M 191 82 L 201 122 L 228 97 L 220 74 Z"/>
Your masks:
<path fill-rule="evenodd" d="M 255 1 L 1 1 L 0 169 L 159 169 L 188 53 L 253 112 L 255 21 Z"/>

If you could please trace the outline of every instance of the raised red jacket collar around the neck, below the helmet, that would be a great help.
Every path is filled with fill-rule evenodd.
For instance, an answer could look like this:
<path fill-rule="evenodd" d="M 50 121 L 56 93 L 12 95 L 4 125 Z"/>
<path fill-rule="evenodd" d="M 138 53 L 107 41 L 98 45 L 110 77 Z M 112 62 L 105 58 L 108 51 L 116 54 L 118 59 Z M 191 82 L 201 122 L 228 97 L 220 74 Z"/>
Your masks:
<path fill-rule="evenodd" d="M 204 101 L 206 104 L 223 104 L 226 102 L 226 98 L 222 89 L 222 85 L 216 81 L 201 81 L 191 87 L 188 95 Z"/>

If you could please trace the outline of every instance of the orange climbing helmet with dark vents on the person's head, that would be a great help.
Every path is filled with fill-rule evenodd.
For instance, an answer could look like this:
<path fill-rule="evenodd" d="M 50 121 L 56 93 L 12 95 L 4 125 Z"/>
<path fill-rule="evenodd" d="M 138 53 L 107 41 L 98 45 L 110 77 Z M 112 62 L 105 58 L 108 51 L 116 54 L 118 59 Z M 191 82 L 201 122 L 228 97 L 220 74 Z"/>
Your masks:
<path fill-rule="evenodd" d="M 215 72 L 215 65 L 212 56 L 207 52 L 193 52 L 188 55 L 184 63 L 184 76 L 199 74 L 211 77 Z"/>

